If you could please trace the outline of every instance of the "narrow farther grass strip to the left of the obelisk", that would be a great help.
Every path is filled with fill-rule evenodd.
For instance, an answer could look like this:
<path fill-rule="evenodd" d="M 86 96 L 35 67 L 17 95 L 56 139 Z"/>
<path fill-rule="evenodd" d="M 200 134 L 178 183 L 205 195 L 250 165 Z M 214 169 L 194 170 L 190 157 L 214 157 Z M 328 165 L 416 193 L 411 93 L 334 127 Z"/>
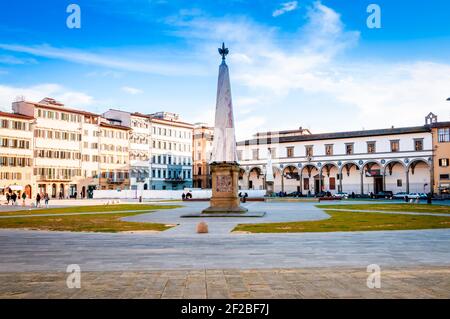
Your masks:
<path fill-rule="evenodd" d="M 179 208 L 181 205 L 146 205 L 146 204 L 116 204 L 116 205 L 91 205 L 91 206 L 67 206 L 58 208 L 23 209 L 0 212 L 0 216 L 36 215 L 36 214 L 66 214 L 66 213 L 99 213 L 117 212 L 127 210 L 161 210 Z"/>

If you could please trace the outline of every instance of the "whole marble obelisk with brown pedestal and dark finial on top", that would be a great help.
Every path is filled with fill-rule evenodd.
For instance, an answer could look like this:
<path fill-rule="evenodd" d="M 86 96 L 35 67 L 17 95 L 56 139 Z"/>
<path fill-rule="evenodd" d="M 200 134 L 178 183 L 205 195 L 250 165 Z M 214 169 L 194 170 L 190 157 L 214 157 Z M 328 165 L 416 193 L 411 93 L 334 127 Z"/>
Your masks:
<path fill-rule="evenodd" d="M 212 197 L 210 207 L 203 210 L 203 214 L 247 212 L 246 208 L 240 206 L 238 196 L 239 164 L 234 133 L 230 75 L 225 63 L 228 52 L 225 44 L 222 43 L 222 47 L 219 48 L 222 63 L 219 66 L 217 82 L 214 139 L 210 163 Z"/>

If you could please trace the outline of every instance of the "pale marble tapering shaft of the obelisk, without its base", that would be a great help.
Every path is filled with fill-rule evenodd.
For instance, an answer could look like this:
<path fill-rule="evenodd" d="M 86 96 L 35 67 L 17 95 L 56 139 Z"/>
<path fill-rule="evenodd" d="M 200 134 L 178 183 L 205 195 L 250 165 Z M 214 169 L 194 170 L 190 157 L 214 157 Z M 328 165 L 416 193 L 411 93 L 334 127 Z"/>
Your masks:
<path fill-rule="evenodd" d="M 237 163 L 233 102 L 231 100 L 230 76 L 225 59 L 222 59 L 222 64 L 219 66 L 211 162 Z"/>

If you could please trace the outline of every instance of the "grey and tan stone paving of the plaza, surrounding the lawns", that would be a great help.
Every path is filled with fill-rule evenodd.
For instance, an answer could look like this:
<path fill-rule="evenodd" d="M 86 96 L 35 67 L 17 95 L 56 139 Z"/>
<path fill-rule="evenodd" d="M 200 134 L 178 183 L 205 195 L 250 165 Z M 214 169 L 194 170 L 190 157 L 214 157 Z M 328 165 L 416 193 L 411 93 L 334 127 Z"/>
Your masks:
<path fill-rule="evenodd" d="M 238 223 L 328 218 L 315 203 L 251 202 L 262 218 L 181 218 L 207 202 L 127 217 L 178 224 L 161 233 L 0 230 L 0 295 L 26 297 L 437 297 L 450 291 L 450 230 L 231 233 Z M 449 216 L 450 219 L 450 216 Z M 78 264 L 82 289 L 65 287 Z M 378 264 L 386 286 L 368 290 Z M 387 289 L 389 288 L 389 289 Z"/>

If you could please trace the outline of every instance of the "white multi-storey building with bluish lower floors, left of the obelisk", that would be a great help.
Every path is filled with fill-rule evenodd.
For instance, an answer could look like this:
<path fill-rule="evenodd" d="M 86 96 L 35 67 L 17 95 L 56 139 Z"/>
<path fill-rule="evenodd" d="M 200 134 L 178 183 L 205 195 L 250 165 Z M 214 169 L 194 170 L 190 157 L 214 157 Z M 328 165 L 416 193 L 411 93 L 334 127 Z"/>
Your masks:
<path fill-rule="evenodd" d="M 192 136 L 194 126 L 169 112 L 150 114 L 152 154 L 151 189 L 192 187 Z"/>

